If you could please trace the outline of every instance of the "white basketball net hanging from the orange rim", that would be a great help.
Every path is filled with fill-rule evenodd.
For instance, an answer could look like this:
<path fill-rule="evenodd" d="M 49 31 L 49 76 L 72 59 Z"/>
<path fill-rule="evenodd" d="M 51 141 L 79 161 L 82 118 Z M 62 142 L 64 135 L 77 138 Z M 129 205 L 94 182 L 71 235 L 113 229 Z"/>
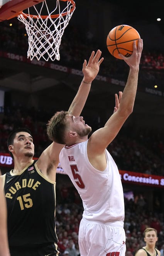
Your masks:
<path fill-rule="evenodd" d="M 60 60 L 59 46 L 64 29 L 68 25 L 69 20 L 75 10 L 73 8 L 73 0 L 55 0 L 56 8 L 49 12 L 46 0 L 42 3 L 28 8 L 28 14 L 22 12 L 18 16 L 19 21 L 25 24 L 27 35 L 29 37 L 29 49 L 27 51 L 27 58 L 30 60 L 37 58 L 39 61 L 41 57 L 45 61 L 51 59 L 54 61 Z M 54 2 L 55 2 L 54 1 Z M 60 1 L 65 2 L 66 7 L 61 11 Z M 52 2 L 52 1 L 51 1 Z M 73 3 L 73 4 L 72 4 Z M 38 9 L 39 5 L 39 10 Z M 31 8 L 36 14 L 30 14 Z M 72 9 L 73 8 L 73 9 Z M 46 14 L 42 14 L 46 10 Z M 56 17 L 52 17 L 55 15 Z M 46 17 L 47 16 L 47 17 Z"/>

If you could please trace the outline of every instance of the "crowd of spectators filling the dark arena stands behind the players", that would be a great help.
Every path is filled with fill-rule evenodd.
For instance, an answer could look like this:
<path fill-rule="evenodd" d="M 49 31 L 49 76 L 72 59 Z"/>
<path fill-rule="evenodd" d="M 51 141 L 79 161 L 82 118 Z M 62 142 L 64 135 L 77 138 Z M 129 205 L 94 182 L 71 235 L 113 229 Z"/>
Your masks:
<path fill-rule="evenodd" d="M 11 23 L 11 21 L 10 21 Z M 13 19 L 12 26 L 5 21 L 0 26 L 0 50 L 14 51 L 17 54 L 26 55 L 28 42 L 25 36 L 24 25 Z M 93 48 L 98 46 L 91 33 L 81 36 L 74 27 L 72 33 L 64 33 L 61 43 L 61 60 L 63 64 L 69 64 L 81 69 L 81 60 L 90 55 Z M 80 35 L 80 38 L 79 38 Z M 82 39 L 83 38 L 83 39 Z M 79 43 L 80 42 L 80 43 Z M 88 47 L 89 45 L 89 47 Z M 102 49 L 103 50 L 103 49 Z M 140 80 L 143 83 L 159 81 L 161 90 L 164 90 L 164 54 L 160 52 L 145 51 L 141 59 Z M 101 73 L 104 75 L 120 74 L 124 78 L 127 67 L 123 66 L 115 58 L 107 58 L 106 66 Z M 120 73 L 119 71 L 122 70 Z M 125 71 L 125 72 L 124 72 Z M 1 74 L 3 77 L 3 74 Z M 35 157 L 50 144 L 46 135 L 46 122 L 51 113 L 43 110 L 25 109 L 22 106 L 11 106 L 4 109 L 0 118 L 0 152 L 8 152 L 7 137 L 10 131 L 16 127 L 27 127 L 34 135 L 34 143 L 37 145 Z M 46 117 L 46 119 L 45 119 Z M 90 124 L 92 126 L 92 124 Z M 94 124 L 95 125 L 95 124 Z M 98 127 L 97 123 L 97 127 Z M 96 126 L 96 125 L 95 125 Z M 95 128 L 97 128 L 95 127 Z M 164 132 L 153 131 L 148 128 L 136 130 L 132 126 L 122 128 L 119 135 L 108 146 L 108 150 L 118 169 L 147 173 L 152 175 L 164 175 Z M 60 255 L 79 256 L 78 229 L 82 218 L 83 205 L 78 193 L 73 187 L 63 186 L 57 190 L 56 205 L 56 232 L 59 239 Z M 125 232 L 126 232 L 126 256 L 134 256 L 135 252 L 144 246 L 143 231 L 147 227 L 156 228 L 158 232 L 157 247 L 164 256 L 164 214 L 156 199 L 154 210 L 147 211 L 147 202 L 143 195 L 136 194 L 134 200 L 125 198 Z"/>

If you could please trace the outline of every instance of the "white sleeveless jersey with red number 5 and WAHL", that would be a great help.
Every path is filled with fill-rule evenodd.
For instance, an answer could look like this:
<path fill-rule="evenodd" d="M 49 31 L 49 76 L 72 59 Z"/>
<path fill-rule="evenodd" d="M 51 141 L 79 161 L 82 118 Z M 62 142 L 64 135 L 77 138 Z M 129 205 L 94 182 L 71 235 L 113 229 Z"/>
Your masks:
<path fill-rule="evenodd" d="M 123 188 L 112 156 L 106 149 L 107 168 L 96 170 L 87 156 L 87 143 L 65 146 L 59 160 L 83 201 L 83 217 L 103 222 L 124 221 Z"/>

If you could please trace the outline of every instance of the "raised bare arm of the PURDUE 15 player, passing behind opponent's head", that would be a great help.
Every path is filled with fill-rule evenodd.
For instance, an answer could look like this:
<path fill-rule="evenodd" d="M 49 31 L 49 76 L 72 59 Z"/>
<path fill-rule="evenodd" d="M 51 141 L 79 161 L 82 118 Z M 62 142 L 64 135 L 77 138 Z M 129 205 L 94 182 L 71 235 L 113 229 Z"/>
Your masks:
<path fill-rule="evenodd" d="M 91 83 L 96 78 L 102 62 L 103 58 L 101 58 L 100 50 L 97 50 L 96 54 L 94 51 L 91 53 L 88 63 L 86 60 L 84 61 L 82 69 L 84 77 L 79 86 L 79 90 L 69 107 L 68 112 L 70 114 L 73 114 L 74 116 L 79 116 L 81 114 L 90 92 Z M 59 164 L 59 153 L 63 147 L 64 145 L 62 144 L 52 142 L 52 144 L 44 150 L 37 161 L 39 170 L 41 170 L 50 180 L 56 180 L 56 168 Z"/>

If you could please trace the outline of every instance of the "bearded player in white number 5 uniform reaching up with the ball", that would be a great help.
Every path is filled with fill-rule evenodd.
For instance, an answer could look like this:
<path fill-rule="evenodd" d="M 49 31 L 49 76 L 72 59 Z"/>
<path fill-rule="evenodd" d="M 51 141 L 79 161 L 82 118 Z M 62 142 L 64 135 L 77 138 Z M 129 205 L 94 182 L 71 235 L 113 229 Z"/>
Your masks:
<path fill-rule="evenodd" d="M 81 256 L 125 256 L 123 188 L 117 165 L 106 148 L 133 111 L 142 48 L 139 39 L 138 48 L 134 42 L 130 57 L 120 55 L 130 71 L 123 93 L 119 92 L 119 97 L 115 94 L 114 113 L 103 128 L 88 139 L 91 127 L 82 116 L 75 117 L 66 111 L 57 112 L 47 124 L 49 138 L 66 144 L 59 161 L 83 201 L 79 227 Z"/>

